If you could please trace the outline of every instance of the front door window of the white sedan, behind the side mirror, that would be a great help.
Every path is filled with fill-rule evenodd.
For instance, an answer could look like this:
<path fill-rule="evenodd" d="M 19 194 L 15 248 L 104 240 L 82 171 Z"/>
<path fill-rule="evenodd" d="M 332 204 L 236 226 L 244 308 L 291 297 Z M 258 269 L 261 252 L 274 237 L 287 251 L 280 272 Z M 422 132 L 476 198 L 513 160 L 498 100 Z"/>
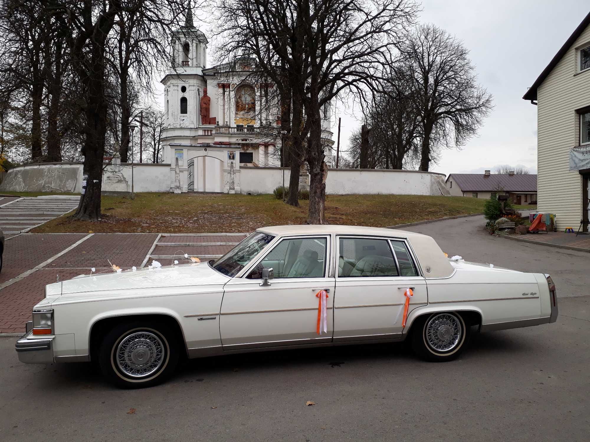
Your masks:
<path fill-rule="evenodd" d="M 321 278 L 326 249 L 326 238 L 283 239 L 246 278 L 260 279 L 264 268 L 272 268 L 275 278 Z"/>

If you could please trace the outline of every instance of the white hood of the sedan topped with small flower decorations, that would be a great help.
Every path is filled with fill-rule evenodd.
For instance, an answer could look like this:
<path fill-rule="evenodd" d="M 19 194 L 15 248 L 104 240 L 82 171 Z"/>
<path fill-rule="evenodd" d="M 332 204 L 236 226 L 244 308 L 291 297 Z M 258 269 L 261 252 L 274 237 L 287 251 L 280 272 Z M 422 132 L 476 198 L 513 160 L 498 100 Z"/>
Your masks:
<path fill-rule="evenodd" d="M 80 275 L 61 282 L 61 295 L 135 291 L 175 286 L 223 285 L 230 278 L 215 271 L 207 262 L 143 268 L 136 271 Z"/>

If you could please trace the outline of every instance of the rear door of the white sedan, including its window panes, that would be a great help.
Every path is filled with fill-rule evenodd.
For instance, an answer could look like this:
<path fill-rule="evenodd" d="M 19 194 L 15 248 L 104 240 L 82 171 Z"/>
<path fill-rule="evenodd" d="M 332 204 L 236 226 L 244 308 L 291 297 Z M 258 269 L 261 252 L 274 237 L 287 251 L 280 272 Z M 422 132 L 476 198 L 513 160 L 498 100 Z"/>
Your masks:
<path fill-rule="evenodd" d="M 337 236 L 334 342 L 401 337 L 409 311 L 428 304 L 427 287 L 405 240 Z"/>

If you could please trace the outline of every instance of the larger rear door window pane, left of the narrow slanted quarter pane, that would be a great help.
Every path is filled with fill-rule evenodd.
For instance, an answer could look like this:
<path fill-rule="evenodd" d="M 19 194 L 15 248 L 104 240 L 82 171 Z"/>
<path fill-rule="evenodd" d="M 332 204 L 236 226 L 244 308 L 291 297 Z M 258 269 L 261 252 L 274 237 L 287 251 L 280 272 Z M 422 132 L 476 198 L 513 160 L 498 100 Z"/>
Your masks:
<path fill-rule="evenodd" d="M 340 238 L 338 276 L 399 276 L 386 239 Z"/>

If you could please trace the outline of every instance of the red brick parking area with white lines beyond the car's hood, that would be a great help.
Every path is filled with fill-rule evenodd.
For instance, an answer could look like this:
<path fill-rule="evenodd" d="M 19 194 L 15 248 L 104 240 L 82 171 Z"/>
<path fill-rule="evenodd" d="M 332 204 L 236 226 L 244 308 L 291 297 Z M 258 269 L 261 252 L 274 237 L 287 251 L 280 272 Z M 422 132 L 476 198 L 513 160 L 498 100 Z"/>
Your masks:
<path fill-rule="evenodd" d="M 10 285 L 0 289 L 0 333 L 24 332 L 25 322 L 30 321 L 32 306 L 43 298 L 45 285 L 57 281 L 58 274 L 60 281 L 64 281 L 88 273 L 91 267 L 97 270 L 108 268 L 107 259 L 123 269 L 133 265 L 139 267 L 158 238 L 156 233 L 95 233 L 44 268 L 22 279 L 13 279 L 86 236 L 85 233 L 24 233 L 6 241 L 5 267 L 0 273 L 0 284 L 9 282 Z M 234 246 L 232 243 L 244 238 L 244 235 L 164 234 L 150 255 L 173 255 L 176 250 L 194 256 L 221 255 Z M 170 263 L 166 259 L 160 261 L 163 265 Z"/>

